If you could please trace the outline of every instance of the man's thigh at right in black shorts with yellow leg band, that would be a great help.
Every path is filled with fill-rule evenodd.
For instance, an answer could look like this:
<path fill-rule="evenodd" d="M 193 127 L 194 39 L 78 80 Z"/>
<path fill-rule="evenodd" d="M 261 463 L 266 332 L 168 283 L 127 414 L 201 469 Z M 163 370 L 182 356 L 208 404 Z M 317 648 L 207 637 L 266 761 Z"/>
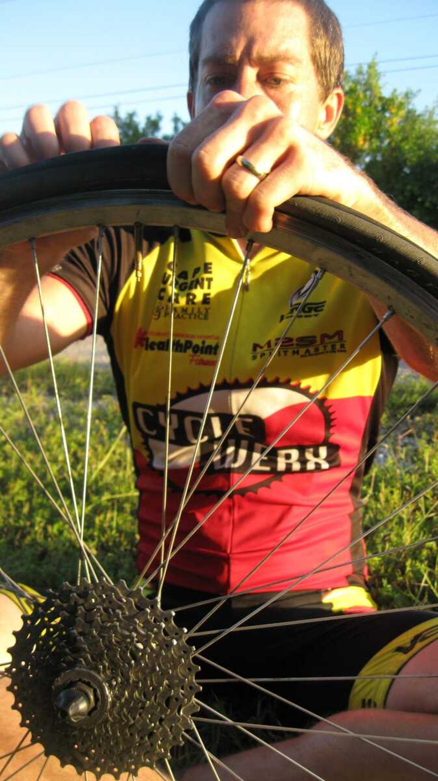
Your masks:
<path fill-rule="evenodd" d="M 267 608 L 256 619 L 259 626 L 283 626 L 231 632 L 203 655 L 240 676 L 263 678 L 264 688 L 290 703 L 281 706 L 281 722 L 301 726 L 309 717 L 355 708 L 436 711 L 438 678 L 403 676 L 438 673 L 437 614 Z M 214 668 L 208 674 L 221 676 Z M 238 689 L 245 701 L 249 684 Z M 228 696 L 229 690 L 223 686 L 221 692 Z"/>

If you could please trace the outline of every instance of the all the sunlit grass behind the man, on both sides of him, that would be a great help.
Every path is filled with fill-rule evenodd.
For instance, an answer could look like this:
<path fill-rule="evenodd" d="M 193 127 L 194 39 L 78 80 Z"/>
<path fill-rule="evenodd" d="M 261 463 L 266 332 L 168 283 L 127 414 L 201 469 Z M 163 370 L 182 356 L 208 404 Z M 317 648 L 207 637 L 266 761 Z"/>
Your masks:
<path fill-rule="evenodd" d="M 58 359 L 58 385 L 76 490 L 81 494 L 83 443 L 87 410 L 87 367 Z M 41 435 L 65 496 L 69 494 L 62 440 L 51 396 L 51 377 L 44 364 L 18 375 L 23 397 Z M 402 375 L 383 419 L 393 425 L 429 387 L 426 380 Z M 438 478 L 436 403 L 438 391 L 419 405 L 380 448 L 364 488 L 366 528 L 394 512 Z M 2 426 L 29 460 L 46 487 L 50 479 L 9 379 L 0 384 Z M 99 369 L 94 392 L 93 436 L 87 491 L 86 538 L 102 565 L 115 578 L 131 581 L 136 547 L 136 491 L 128 437 L 123 430 L 109 369 Z M 75 576 L 72 533 L 30 478 L 19 458 L 4 443 L 0 465 L 2 504 L 0 561 L 16 580 L 44 589 Z M 51 487 L 55 497 L 55 490 Z M 72 511 L 72 502 L 69 501 Z M 382 526 L 368 540 L 373 592 L 384 607 L 438 601 L 437 541 L 407 551 L 381 555 L 394 547 L 434 537 L 438 489 Z"/>

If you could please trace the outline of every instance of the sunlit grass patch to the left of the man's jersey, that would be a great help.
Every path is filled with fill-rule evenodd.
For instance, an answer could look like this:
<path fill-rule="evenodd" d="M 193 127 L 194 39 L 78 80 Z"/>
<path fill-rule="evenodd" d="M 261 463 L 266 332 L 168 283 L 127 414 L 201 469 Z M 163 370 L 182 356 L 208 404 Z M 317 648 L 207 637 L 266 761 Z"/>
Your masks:
<path fill-rule="evenodd" d="M 66 439 L 76 492 L 81 497 L 87 366 L 58 360 L 57 369 Z M 69 481 L 48 366 L 40 364 L 26 369 L 17 374 L 17 380 L 62 492 L 69 497 Z M 2 426 L 59 504 L 12 384 L 6 378 L 0 384 L 0 404 Z M 115 578 L 123 577 L 129 582 L 135 574 L 135 476 L 129 440 L 122 426 L 109 369 L 96 373 L 88 474 L 87 543 L 105 569 L 111 571 Z M 59 583 L 60 579 L 74 581 L 77 564 L 76 556 L 72 555 L 72 551 L 76 550 L 72 532 L 5 443 L 2 444 L 0 490 L 0 561 L 7 572 L 16 580 L 41 589 Z M 72 501 L 68 499 L 67 505 L 72 513 Z"/>

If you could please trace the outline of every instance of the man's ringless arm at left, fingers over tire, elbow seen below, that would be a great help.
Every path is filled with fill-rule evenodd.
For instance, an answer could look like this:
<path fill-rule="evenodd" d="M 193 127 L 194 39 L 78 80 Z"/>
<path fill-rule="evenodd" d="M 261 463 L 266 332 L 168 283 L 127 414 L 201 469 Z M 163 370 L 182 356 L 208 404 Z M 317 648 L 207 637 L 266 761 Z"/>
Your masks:
<path fill-rule="evenodd" d="M 0 169 L 12 170 L 65 152 L 79 152 L 118 144 L 118 130 L 109 117 L 88 119 L 83 105 L 68 102 L 55 119 L 43 105 L 34 105 L 24 117 L 20 136 L 0 139 Z M 97 229 L 69 231 L 37 239 L 37 258 L 47 301 L 48 329 L 53 352 L 59 352 L 87 330 L 87 317 L 74 294 L 61 281 L 44 276 L 73 247 L 93 239 Z M 47 357 L 41 305 L 35 287 L 34 258 L 27 242 L 0 251 L 0 344 L 12 368 Z M 0 362 L 2 363 L 2 362 Z M 0 366 L 5 373 L 5 366 Z"/>

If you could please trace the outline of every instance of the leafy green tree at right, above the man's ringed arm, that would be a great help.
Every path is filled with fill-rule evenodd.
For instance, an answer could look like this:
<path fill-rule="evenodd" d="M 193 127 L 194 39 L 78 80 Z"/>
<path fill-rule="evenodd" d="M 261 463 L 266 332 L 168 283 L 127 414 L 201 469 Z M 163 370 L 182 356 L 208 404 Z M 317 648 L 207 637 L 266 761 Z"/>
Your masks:
<path fill-rule="evenodd" d="M 345 108 L 331 143 L 383 192 L 438 228 L 438 116 L 415 109 L 415 93 L 383 95 L 376 61 L 344 84 Z"/>

